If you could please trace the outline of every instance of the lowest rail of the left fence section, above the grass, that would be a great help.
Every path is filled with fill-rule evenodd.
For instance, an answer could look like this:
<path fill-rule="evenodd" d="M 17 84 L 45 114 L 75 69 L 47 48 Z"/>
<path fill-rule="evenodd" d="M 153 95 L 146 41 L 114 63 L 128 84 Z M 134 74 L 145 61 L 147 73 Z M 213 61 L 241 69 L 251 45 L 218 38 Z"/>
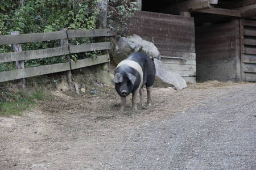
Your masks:
<path fill-rule="evenodd" d="M 44 75 L 50 73 L 57 73 L 69 70 L 69 62 L 57 63 L 53 65 L 31 67 L 27 69 L 19 69 L 13 71 L 4 71 L 0 73 L 0 82 L 16 80 L 21 78 L 28 78 L 31 76 Z"/>

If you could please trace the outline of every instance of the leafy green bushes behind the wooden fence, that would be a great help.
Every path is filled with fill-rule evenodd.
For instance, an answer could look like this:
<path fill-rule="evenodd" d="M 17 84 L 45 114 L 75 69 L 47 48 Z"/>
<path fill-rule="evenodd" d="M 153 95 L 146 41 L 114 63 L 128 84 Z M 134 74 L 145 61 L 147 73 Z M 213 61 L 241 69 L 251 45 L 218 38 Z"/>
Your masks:
<path fill-rule="evenodd" d="M 95 29 L 98 0 L 5 0 L 0 5 L 0 35 L 10 35 L 11 31 L 20 33 L 60 31 L 69 29 Z M 93 39 L 88 37 L 71 40 L 71 44 L 90 43 Z M 60 46 L 60 40 L 48 42 L 34 42 L 23 44 L 23 50 L 46 49 Z M 9 45 L 0 46 L 0 53 L 13 52 Z M 96 56 L 95 52 L 88 53 Z M 84 57 L 86 54 L 74 54 L 73 60 Z M 53 63 L 65 62 L 65 56 L 34 59 L 25 61 L 25 67 L 34 67 Z M 15 69 L 15 64 L 2 63 L 0 71 Z"/>

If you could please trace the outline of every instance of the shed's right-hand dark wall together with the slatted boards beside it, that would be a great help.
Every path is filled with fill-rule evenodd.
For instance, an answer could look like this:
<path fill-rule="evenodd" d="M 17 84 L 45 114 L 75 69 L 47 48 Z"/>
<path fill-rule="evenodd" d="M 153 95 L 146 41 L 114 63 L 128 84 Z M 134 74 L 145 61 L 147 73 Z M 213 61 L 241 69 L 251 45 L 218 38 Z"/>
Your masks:
<path fill-rule="evenodd" d="M 256 20 L 196 29 L 197 80 L 256 82 Z"/>

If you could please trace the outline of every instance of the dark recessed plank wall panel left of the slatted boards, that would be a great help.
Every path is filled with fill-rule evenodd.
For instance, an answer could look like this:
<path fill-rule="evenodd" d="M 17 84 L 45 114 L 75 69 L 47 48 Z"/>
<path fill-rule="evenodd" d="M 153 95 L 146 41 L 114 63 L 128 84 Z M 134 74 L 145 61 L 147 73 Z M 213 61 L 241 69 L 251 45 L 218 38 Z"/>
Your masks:
<path fill-rule="evenodd" d="M 197 80 L 241 80 L 240 23 L 196 27 Z"/>

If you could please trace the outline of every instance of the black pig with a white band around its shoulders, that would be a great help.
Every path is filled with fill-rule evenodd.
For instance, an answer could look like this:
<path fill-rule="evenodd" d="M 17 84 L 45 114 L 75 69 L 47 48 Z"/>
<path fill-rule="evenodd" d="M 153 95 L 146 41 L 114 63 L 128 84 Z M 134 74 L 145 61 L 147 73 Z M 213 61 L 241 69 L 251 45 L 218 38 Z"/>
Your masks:
<path fill-rule="evenodd" d="M 121 96 L 121 111 L 125 108 L 126 96 L 133 94 L 131 103 L 133 110 L 137 110 L 136 98 L 141 96 L 143 108 L 143 87 L 147 88 L 147 104 L 151 105 L 151 91 L 155 81 L 154 58 L 144 53 L 133 53 L 121 61 L 115 69 L 113 82 L 115 90 Z"/>

